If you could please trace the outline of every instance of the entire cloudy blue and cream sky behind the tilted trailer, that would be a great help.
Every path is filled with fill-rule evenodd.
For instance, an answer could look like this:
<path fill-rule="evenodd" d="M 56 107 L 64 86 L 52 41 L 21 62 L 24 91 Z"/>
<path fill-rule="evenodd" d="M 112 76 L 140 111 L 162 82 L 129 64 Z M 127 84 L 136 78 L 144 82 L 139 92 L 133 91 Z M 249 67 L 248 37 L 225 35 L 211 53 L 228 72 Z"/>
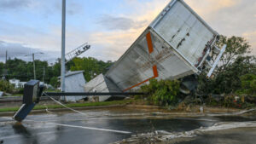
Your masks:
<path fill-rule="evenodd" d="M 255 0 L 184 0 L 218 33 L 246 37 L 256 55 Z M 170 0 L 67 0 L 66 51 L 117 60 Z M 0 1 L 0 61 L 18 57 L 54 62 L 61 56 L 61 0 Z M 28 55 L 28 56 L 25 56 Z"/>

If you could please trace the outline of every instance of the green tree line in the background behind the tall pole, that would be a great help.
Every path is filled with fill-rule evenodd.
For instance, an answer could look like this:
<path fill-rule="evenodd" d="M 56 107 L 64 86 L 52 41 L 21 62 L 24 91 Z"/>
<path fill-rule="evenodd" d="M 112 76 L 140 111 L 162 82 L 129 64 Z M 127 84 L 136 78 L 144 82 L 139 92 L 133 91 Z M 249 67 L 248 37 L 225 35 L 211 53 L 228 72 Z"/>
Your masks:
<path fill-rule="evenodd" d="M 113 62 L 108 60 L 107 62 L 97 60 L 92 57 L 75 58 L 69 61 L 66 65 L 67 71 L 79 71 L 84 70 L 84 78 L 86 81 L 90 81 L 91 78 L 96 77 L 100 73 L 108 71 L 108 67 Z M 36 77 L 40 81 L 44 81 L 46 84 L 51 84 L 55 88 L 59 86 L 58 77 L 61 75 L 61 63 L 60 59 L 50 66 L 47 61 L 35 60 Z M 6 63 L 0 62 L 0 75 L 5 76 L 6 79 L 20 79 L 20 81 L 29 81 L 34 78 L 33 74 L 33 62 L 20 59 L 9 59 Z"/>

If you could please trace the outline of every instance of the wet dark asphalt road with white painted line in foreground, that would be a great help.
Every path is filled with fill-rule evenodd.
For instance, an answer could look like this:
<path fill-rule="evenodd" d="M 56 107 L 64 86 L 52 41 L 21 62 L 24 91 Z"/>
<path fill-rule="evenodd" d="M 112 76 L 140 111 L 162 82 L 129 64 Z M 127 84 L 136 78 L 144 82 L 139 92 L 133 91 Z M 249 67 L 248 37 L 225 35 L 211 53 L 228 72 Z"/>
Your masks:
<path fill-rule="evenodd" d="M 10 118 L 3 117 L 0 118 L 0 141 L 3 140 L 4 144 L 104 144 L 155 130 L 183 132 L 210 127 L 218 122 L 256 120 L 254 116 L 177 118 L 172 114 L 131 109 L 90 110 L 84 113 L 86 115 L 79 113 L 30 115 L 22 125 L 17 125 Z M 255 129 L 246 131 L 250 130 Z M 189 141 L 178 143 L 206 143 L 207 141 L 211 143 L 210 141 L 218 140 L 218 138 L 221 141 L 228 138 L 223 135 L 239 137 L 245 133 L 238 130 L 235 134 L 230 134 L 229 131 L 224 132 L 223 135 L 220 134 L 214 132 L 202 134 Z M 256 131 L 247 135 L 256 137 Z"/>

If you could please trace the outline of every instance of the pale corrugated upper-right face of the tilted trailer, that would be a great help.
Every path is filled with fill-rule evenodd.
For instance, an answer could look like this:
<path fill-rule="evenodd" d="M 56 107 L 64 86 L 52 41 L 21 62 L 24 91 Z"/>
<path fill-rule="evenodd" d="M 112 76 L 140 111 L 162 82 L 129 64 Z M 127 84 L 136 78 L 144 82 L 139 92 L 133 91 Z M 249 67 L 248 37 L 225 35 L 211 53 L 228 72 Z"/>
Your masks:
<path fill-rule="evenodd" d="M 218 37 L 183 0 L 169 3 L 150 27 L 192 66 L 199 66 L 204 49 L 212 47 Z"/>

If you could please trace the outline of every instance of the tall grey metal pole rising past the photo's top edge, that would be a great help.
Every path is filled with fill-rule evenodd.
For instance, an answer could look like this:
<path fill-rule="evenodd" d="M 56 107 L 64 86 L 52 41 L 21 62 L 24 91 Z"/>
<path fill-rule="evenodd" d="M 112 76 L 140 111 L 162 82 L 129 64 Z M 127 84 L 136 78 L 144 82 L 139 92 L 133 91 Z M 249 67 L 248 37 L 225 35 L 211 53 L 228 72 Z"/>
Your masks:
<path fill-rule="evenodd" d="M 65 92 L 65 24 L 66 24 L 66 0 L 62 0 L 61 92 Z"/>

